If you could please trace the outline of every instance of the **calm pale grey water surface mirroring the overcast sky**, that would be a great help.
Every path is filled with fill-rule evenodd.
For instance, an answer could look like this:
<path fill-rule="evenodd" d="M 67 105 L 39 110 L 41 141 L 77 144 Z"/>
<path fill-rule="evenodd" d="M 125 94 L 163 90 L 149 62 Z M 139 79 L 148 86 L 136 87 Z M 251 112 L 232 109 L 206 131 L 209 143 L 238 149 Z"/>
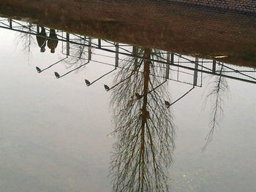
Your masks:
<path fill-rule="evenodd" d="M 28 53 L 20 42 L 20 33 L 0 29 L 0 34 L 0 191 L 111 191 L 113 185 L 118 184 L 115 180 L 121 178 L 121 174 L 111 172 L 113 162 L 116 162 L 113 157 L 118 160 L 118 157 L 124 155 L 120 145 L 129 147 L 127 143 L 132 141 L 126 140 L 129 132 L 127 134 L 123 130 L 125 134 L 120 134 L 117 128 L 125 123 L 125 115 L 129 117 L 129 114 L 135 113 L 130 110 L 127 114 L 127 108 L 122 108 L 122 104 L 125 99 L 131 99 L 129 88 L 135 87 L 136 82 L 105 91 L 103 85 L 115 85 L 125 77 L 122 70 L 118 69 L 87 87 L 85 78 L 92 82 L 113 69 L 113 66 L 96 62 L 59 79 L 54 77 L 54 72 L 64 74 L 74 69 L 75 64 L 61 63 L 43 73 L 37 73 L 36 66 L 45 69 L 65 58 L 61 42 L 54 54 L 50 53 L 48 47 L 45 53 L 40 53 L 33 37 L 34 44 Z M 94 60 L 99 57 L 95 55 Z M 150 71 L 154 71 L 154 67 L 150 67 Z M 143 77 L 146 81 L 145 70 L 144 67 Z M 152 83 L 156 81 L 152 80 Z M 142 120 L 146 119 L 149 123 L 154 119 L 151 125 L 157 122 L 160 128 L 166 125 L 170 128 L 163 129 L 169 131 L 168 137 L 158 134 L 154 141 L 155 150 L 158 150 L 156 156 L 159 159 L 169 156 L 170 159 L 165 161 L 173 160 L 167 164 L 167 170 L 165 164 L 161 164 L 162 160 L 157 160 L 165 172 L 164 181 L 169 190 L 174 192 L 255 191 L 256 86 L 227 79 L 225 85 L 228 85 L 229 91 L 221 96 L 223 117 L 217 121 L 213 139 L 202 151 L 211 130 L 212 107 L 216 101 L 213 98 L 205 103 L 206 96 L 214 86 L 212 82 L 214 77 L 211 74 L 203 74 L 202 88 L 195 87 L 170 107 L 163 104 L 162 95 L 155 97 L 158 99 L 156 104 L 154 96 L 148 96 L 148 104 L 163 104 L 160 107 L 165 107 L 161 108 L 164 110 L 156 107 L 148 112 L 143 107 L 141 110 L 136 108 L 141 111 Z M 167 96 L 170 99 L 168 101 L 173 102 L 192 85 L 168 80 L 163 90 L 162 86 L 159 88 L 156 90 L 167 91 L 170 95 Z M 140 93 L 141 89 L 138 87 L 135 91 Z M 140 97 L 143 95 L 137 95 L 138 100 Z M 115 110 L 122 116 L 116 117 Z M 162 118 L 165 123 L 158 118 Z M 128 121 L 126 126 L 130 124 L 131 121 Z M 111 134 L 114 130 L 116 134 Z M 176 132 L 175 137 L 173 131 Z M 167 142 L 162 146 L 159 141 Z M 158 146 L 163 148 L 159 149 Z M 149 157 L 152 156 L 150 147 L 145 151 Z M 167 155 L 161 155 L 168 151 L 170 153 Z M 113 155 L 114 152 L 118 155 Z M 126 160 L 121 158 L 121 161 Z M 149 160 L 147 163 L 152 162 Z"/>

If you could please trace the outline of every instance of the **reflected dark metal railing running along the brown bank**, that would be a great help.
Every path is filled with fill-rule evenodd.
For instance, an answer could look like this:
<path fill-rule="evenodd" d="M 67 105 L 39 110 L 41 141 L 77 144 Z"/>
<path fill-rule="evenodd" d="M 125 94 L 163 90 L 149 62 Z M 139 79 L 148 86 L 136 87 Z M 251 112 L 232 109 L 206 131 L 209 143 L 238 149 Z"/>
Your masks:
<path fill-rule="evenodd" d="M 0 27 L 40 37 L 39 26 L 34 24 L 28 25 L 22 21 L 0 18 Z M 48 28 L 45 28 L 45 30 L 47 32 L 50 31 Z M 117 69 L 120 67 L 124 68 L 125 66 L 120 66 L 119 64 L 127 61 L 130 57 L 145 59 L 134 54 L 135 47 L 132 45 L 110 42 L 104 39 L 84 37 L 79 34 L 68 34 L 64 31 L 56 31 L 56 34 L 58 40 L 61 41 L 61 53 L 64 54 L 66 58 L 77 58 L 82 61 L 83 64 L 88 61 L 86 64 L 105 64 L 114 66 L 115 69 Z M 50 39 L 50 37 L 47 37 L 47 39 Z M 201 87 L 203 84 L 203 74 L 211 74 L 233 80 L 256 83 L 256 70 L 254 69 L 248 69 L 241 66 L 229 66 L 215 60 L 193 58 L 191 56 L 179 55 L 177 53 L 166 51 L 160 52 L 160 55 L 157 55 L 159 50 L 152 53 L 152 55 L 155 56 L 154 58 L 157 59 L 152 58 L 148 60 L 154 62 L 157 67 L 162 67 L 158 64 L 165 64 L 165 75 L 162 76 L 165 80 L 173 80 Z M 63 62 L 67 62 L 65 59 L 62 60 Z M 57 63 L 62 62 L 62 60 Z M 221 66 L 223 66 L 222 72 L 220 72 Z M 80 68 L 80 66 L 75 69 L 78 68 Z M 45 69 L 39 69 L 37 71 L 42 72 L 44 70 Z M 72 71 L 73 70 L 74 69 L 72 69 Z M 108 74 L 109 73 L 110 72 L 108 72 Z M 103 77 L 105 77 L 105 74 Z M 101 79 L 101 77 L 99 77 L 99 79 Z"/>

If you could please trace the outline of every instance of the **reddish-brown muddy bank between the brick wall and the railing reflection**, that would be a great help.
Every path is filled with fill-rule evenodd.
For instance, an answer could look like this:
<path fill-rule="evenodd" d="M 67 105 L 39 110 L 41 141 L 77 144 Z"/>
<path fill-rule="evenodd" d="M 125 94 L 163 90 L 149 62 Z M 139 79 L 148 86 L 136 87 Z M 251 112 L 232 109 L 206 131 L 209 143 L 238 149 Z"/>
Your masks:
<path fill-rule="evenodd" d="M 220 61 L 256 66 L 256 9 L 178 1 L 1 0 L 0 15 L 200 58 L 228 55 Z"/>

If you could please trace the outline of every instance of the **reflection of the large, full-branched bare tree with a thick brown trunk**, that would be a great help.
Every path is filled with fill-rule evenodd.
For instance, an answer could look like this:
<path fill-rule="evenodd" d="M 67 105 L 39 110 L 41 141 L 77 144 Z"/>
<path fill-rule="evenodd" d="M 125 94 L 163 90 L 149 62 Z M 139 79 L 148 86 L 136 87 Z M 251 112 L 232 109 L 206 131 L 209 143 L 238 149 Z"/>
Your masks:
<path fill-rule="evenodd" d="M 137 49 L 143 58 L 157 58 L 150 49 Z M 161 53 L 159 53 L 161 54 Z M 122 64 L 113 88 L 111 105 L 117 137 L 110 170 L 113 191 L 167 191 L 166 166 L 172 161 L 175 126 L 165 105 L 165 66 L 129 58 Z"/>

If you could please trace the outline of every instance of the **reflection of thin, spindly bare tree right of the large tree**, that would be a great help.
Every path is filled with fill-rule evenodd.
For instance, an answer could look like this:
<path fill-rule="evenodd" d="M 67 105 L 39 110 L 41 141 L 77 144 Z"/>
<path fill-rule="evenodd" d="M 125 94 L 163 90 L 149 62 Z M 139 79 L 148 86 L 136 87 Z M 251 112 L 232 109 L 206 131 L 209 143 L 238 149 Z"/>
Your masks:
<path fill-rule="evenodd" d="M 213 100 L 213 104 L 211 106 L 211 121 L 210 121 L 210 131 L 206 137 L 206 145 L 203 147 L 203 150 L 213 139 L 214 129 L 218 126 L 219 120 L 222 118 L 222 104 L 223 104 L 223 96 L 228 92 L 227 80 L 225 77 L 222 77 L 223 72 L 223 64 L 220 69 L 220 76 L 216 76 L 214 81 L 211 82 L 213 86 L 211 87 L 211 92 L 206 96 L 206 101 L 208 99 Z"/>

